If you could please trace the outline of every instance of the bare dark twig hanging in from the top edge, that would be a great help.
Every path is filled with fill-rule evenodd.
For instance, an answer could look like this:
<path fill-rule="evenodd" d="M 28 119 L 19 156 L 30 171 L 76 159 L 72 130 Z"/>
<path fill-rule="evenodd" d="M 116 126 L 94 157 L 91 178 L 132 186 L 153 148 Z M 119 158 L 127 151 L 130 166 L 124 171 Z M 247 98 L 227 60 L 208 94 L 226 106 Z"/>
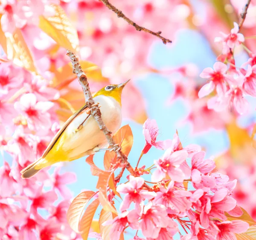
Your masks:
<path fill-rule="evenodd" d="M 132 26 L 134 26 L 137 31 L 148 32 L 148 33 L 150 33 L 150 34 L 156 36 L 157 38 L 160 38 L 160 39 L 163 41 L 164 44 L 166 44 L 166 43 L 172 43 L 171 40 L 169 40 L 169 39 L 167 39 L 167 38 L 164 38 L 164 37 L 162 37 L 162 36 L 160 35 L 160 34 L 162 33 L 161 31 L 159 31 L 159 32 L 153 32 L 153 31 L 151 31 L 151 30 L 149 30 L 149 29 L 146 29 L 146 28 L 144 28 L 144 27 L 142 27 L 142 26 L 139 26 L 138 24 L 134 23 L 134 21 L 132 21 L 130 18 L 126 17 L 125 14 L 123 14 L 121 10 L 119 10 L 119 9 L 117 9 L 115 6 L 113 6 L 108 0 L 100 0 L 100 1 L 102 1 L 102 3 L 104 3 L 105 6 L 108 7 L 108 9 L 112 10 L 113 12 L 115 12 L 116 15 L 117 15 L 117 17 L 121 17 L 121 18 L 124 19 L 127 23 L 129 23 L 129 24 L 131 24 Z"/>

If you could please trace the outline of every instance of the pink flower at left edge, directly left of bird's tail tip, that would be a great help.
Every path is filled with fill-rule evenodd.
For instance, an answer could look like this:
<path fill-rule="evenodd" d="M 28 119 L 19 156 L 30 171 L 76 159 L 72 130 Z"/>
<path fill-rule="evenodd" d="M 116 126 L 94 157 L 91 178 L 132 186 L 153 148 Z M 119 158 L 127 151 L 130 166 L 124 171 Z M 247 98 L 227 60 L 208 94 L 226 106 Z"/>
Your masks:
<path fill-rule="evenodd" d="M 0 186 L 0 197 L 11 197 L 16 191 L 20 191 L 20 185 L 13 178 L 7 162 L 3 162 L 3 166 L 0 168 Z"/>

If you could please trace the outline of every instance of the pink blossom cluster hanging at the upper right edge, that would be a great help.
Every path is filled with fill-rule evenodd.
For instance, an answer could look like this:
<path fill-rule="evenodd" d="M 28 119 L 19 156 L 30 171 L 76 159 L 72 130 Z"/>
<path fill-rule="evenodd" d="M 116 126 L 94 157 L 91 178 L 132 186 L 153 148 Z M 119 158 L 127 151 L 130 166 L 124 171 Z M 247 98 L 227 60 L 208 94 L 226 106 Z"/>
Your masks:
<path fill-rule="evenodd" d="M 215 38 L 222 43 L 222 55 L 218 62 L 207 67 L 200 74 L 201 78 L 207 78 L 209 82 L 198 92 L 199 98 L 211 94 L 215 90 L 215 96 L 207 102 L 207 107 L 217 112 L 231 108 L 235 113 L 244 114 L 248 110 L 248 101 L 245 96 L 256 97 L 256 55 L 250 52 L 250 58 L 242 66 L 236 67 L 233 53 L 235 47 L 244 42 L 244 36 L 239 33 L 239 26 L 234 23 L 230 34 L 222 33 L 222 37 Z M 244 67 L 247 66 L 247 69 Z"/>

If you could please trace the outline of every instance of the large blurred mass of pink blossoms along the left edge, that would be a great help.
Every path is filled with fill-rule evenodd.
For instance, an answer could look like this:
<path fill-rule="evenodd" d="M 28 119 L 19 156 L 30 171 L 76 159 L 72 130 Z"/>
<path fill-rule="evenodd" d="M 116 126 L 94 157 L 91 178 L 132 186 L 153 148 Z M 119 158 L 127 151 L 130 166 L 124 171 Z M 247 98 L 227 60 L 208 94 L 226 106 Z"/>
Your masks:
<path fill-rule="evenodd" d="M 59 128 L 53 102 L 58 97 L 48 81 L 11 63 L 0 64 L 1 158 L 12 159 L 11 165 L 4 161 L 0 167 L 3 240 L 78 239 L 66 217 L 72 197 L 66 185 L 76 181 L 75 174 L 61 174 L 56 168 L 52 175 L 44 170 L 32 179 L 20 177 L 20 171 L 42 155 Z"/>

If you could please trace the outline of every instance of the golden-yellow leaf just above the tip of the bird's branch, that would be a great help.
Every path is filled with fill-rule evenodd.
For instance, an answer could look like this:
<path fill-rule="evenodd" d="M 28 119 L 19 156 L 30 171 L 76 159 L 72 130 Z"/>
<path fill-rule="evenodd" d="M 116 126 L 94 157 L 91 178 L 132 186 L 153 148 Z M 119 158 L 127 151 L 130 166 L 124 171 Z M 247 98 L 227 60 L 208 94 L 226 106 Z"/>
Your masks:
<path fill-rule="evenodd" d="M 76 52 L 79 39 L 75 27 L 73 27 L 61 6 L 52 4 L 51 7 L 55 10 L 55 15 L 39 16 L 39 28 L 60 46 Z"/>

